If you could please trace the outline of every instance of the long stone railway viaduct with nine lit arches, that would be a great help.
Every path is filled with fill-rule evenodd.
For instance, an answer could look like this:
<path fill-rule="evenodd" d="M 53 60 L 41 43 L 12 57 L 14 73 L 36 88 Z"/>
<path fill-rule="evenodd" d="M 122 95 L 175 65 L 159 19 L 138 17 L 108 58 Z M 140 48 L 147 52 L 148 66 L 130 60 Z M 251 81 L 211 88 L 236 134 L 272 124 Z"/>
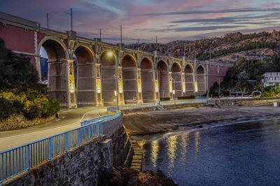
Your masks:
<path fill-rule="evenodd" d="M 220 79 L 231 64 L 190 60 L 112 45 L 100 39 L 83 38 L 75 31 L 45 29 L 38 22 L 0 12 L 0 38 L 13 52 L 30 57 L 41 76 L 40 48 L 48 54 L 48 90 L 62 106 L 109 106 L 155 102 L 163 95 L 201 96 Z M 113 55 L 110 57 L 109 52 Z M 77 85 L 73 61 L 78 62 Z M 116 73 L 118 64 L 118 74 Z"/>

